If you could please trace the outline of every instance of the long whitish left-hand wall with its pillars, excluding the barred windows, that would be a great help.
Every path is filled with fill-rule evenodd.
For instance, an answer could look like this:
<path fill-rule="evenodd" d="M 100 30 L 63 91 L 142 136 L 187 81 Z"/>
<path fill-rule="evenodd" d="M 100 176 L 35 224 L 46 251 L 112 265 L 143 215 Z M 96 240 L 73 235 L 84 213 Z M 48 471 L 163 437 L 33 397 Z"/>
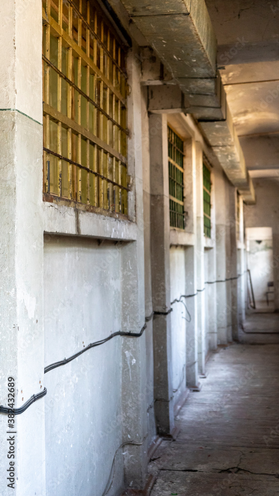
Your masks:
<path fill-rule="evenodd" d="M 118 496 L 124 487 L 144 487 L 149 446 L 157 434 L 173 434 L 186 386 L 199 389 L 206 355 L 233 337 L 233 288 L 226 279 L 234 274 L 235 189 L 211 152 L 213 228 L 205 239 L 202 157 L 210 150 L 189 115 L 148 112 L 134 43 L 127 61 L 128 218 L 43 202 L 41 3 L 28 2 L 20 20 L 14 2 L 4 3 L 1 17 L 11 24 L 0 33 L 9 53 L 0 75 L 0 108 L 6 109 L 0 122 L 1 403 L 7 403 L 10 374 L 16 406 L 48 389 L 45 400 L 17 418 L 15 494 Z M 185 140 L 184 231 L 169 226 L 168 122 Z M 171 305 L 182 295 L 183 303 Z M 141 337 L 115 337 L 44 375 L 45 366 L 90 342 L 118 330 L 139 333 L 145 322 Z M 6 418 L 0 422 L 4 473 Z"/>

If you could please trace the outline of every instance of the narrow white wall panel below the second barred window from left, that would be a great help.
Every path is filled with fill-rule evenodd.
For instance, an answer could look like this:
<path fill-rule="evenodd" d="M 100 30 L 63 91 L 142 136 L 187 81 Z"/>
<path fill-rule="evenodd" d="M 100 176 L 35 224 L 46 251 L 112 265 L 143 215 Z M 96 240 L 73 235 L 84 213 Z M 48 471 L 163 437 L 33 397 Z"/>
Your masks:
<path fill-rule="evenodd" d="M 185 295 L 185 248 L 170 248 L 170 300 L 179 300 Z M 186 313 L 184 305 L 187 301 L 172 305 L 171 318 L 171 357 L 172 357 L 172 390 L 174 404 L 186 388 Z"/>

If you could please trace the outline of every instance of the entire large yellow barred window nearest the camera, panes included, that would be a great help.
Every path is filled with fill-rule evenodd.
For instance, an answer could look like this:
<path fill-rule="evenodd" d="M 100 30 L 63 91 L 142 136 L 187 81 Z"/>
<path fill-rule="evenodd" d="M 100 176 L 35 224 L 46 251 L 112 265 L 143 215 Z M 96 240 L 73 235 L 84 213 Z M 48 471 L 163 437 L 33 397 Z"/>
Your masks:
<path fill-rule="evenodd" d="M 127 214 L 126 88 L 98 3 L 43 0 L 45 200 Z"/>

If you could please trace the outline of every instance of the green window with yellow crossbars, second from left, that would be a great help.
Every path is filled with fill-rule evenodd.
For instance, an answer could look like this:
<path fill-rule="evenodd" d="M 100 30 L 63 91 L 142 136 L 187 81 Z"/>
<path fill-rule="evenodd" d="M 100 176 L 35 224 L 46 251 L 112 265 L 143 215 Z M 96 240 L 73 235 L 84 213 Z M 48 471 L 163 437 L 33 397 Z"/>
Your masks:
<path fill-rule="evenodd" d="M 169 126 L 167 127 L 167 137 L 170 226 L 184 229 L 184 143 Z"/>

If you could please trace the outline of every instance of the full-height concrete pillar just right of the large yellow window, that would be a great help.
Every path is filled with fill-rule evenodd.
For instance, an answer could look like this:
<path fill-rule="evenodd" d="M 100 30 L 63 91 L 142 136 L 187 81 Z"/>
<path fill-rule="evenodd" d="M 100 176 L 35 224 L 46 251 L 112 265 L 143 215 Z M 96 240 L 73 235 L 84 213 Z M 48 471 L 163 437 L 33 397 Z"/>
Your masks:
<path fill-rule="evenodd" d="M 137 241 L 122 250 L 122 328 L 139 331 L 145 324 L 144 236 L 143 236 L 143 170 L 141 134 L 140 68 L 134 64 L 134 51 L 127 59 L 131 85 L 128 101 L 129 173 L 135 177 L 137 202 Z M 129 167 L 130 167 L 129 166 Z M 132 202 L 130 202 L 132 203 Z M 132 215 L 132 212 L 130 212 Z M 146 336 L 122 341 L 122 440 L 124 449 L 124 482 L 142 489 L 147 475 L 147 394 L 146 394 Z"/>

